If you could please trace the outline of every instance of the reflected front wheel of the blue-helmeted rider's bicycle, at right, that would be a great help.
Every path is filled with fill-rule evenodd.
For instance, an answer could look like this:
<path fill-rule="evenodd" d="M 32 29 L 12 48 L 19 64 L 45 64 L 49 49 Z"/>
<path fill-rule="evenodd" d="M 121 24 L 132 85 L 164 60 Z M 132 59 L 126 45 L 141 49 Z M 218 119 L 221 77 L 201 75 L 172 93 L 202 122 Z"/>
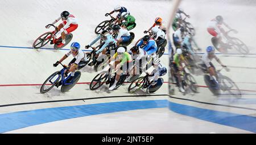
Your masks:
<path fill-rule="evenodd" d="M 221 87 L 220 87 L 221 90 L 228 91 L 229 94 L 237 98 L 242 97 L 241 90 L 238 88 L 236 83 L 232 81 L 229 77 L 222 76 L 220 84 L 221 84 Z"/>

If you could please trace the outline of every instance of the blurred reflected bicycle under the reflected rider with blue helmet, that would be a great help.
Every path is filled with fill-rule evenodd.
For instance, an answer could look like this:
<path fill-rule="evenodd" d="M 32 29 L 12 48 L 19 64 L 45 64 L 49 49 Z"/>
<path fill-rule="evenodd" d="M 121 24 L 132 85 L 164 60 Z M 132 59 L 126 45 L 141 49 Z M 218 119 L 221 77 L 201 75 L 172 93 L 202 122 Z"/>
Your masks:
<path fill-rule="evenodd" d="M 210 80 L 210 74 L 207 68 L 200 65 L 201 70 L 205 73 L 204 74 L 204 82 L 208 86 L 210 92 L 214 94 L 214 96 L 221 95 L 222 92 L 229 92 L 228 94 L 231 94 L 233 96 L 236 96 L 237 98 L 241 98 L 241 90 L 238 88 L 236 83 L 232 81 L 229 77 L 224 76 L 221 74 L 221 70 L 224 68 L 216 71 L 216 74 L 218 76 L 218 82 L 216 80 Z M 225 67 L 225 70 L 229 72 L 230 70 Z M 232 89 L 234 88 L 234 89 Z M 233 93 L 232 91 L 236 91 L 236 93 Z"/>

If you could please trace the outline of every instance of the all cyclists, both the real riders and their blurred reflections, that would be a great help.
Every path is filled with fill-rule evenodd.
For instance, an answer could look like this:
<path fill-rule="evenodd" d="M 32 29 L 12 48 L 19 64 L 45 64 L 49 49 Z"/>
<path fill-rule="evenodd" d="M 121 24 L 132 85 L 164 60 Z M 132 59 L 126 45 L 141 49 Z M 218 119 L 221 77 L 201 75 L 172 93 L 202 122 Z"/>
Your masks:
<path fill-rule="evenodd" d="M 95 51 L 93 54 L 95 59 L 93 59 L 93 61 L 88 65 L 94 65 L 97 62 L 97 57 L 100 54 L 105 55 L 106 51 L 112 46 L 116 48 L 115 53 L 114 55 L 112 55 L 112 57 L 110 57 L 107 63 L 109 63 L 110 67 L 114 68 L 116 75 L 115 81 L 113 85 L 110 86 L 109 90 L 115 89 L 115 86 L 121 74 L 129 73 L 129 77 L 126 78 L 126 80 L 129 81 L 131 77 L 139 73 L 138 67 L 135 67 L 136 62 L 140 63 L 138 65 L 141 68 L 147 69 L 146 65 L 148 65 L 148 59 L 151 59 L 150 63 L 155 68 L 155 79 L 152 80 L 154 81 L 152 83 L 156 83 L 159 76 L 163 76 L 167 73 L 166 67 L 164 67 L 164 65 L 161 63 L 156 53 L 159 43 L 163 42 L 163 40 L 166 39 L 166 28 L 164 27 L 163 19 L 160 17 L 156 18 L 154 24 L 152 24 L 152 26 L 148 28 L 148 30 L 144 31 L 144 34 L 146 35 L 144 35 L 143 38 L 139 40 L 139 42 L 134 47 L 127 51 L 127 49 L 125 47 L 122 47 L 121 44 L 127 43 L 131 40 L 131 34 L 129 31 L 136 26 L 135 18 L 130 14 L 130 12 L 125 7 L 121 6 L 114 7 L 114 10 L 110 13 L 106 13 L 105 16 L 108 16 L 113 13 L 118 14 L 115 17 L 114 22 L 112 23 L 111 30 L 102 31 L 100 35 L 98 35 L 89 45 L 85 46 L 85 48 L 88 49 L 89 47 L 92 47 L 93 44 L 98 42 L 98 40 L 101 40 L 101 44 L 98 46 L 98 49 L 96 47 L 92 47 L 94 50 L 97 49 L 97 51 Z M 180 72 L 181 70 L 183 70 L 182 64 L 188 65 L 188 62 L 186 62 L 183 57 L 183 51 L 184 49 L 186 49 L 193 60 L 195 59 L 195 52 L 194 49 L 192 48 L 191 43 L 193 42 L 198 50 L 200 50 L 200 48 L 197 46 L 195 40 L 193 40 L 192 34 L 190 34 L 182 25 L 182 15 L 185 15 L 186 17 L 190 18 L 190 16 L 185 14 L 182 9 L 177 10 L 174 22 L 172 23 L 172 27 L 174 28 L 174 34 L 172 35 L 173 43 L 176 49 L 175 53 L 174 51 L 172 51 L 171 64 L 174 67 L 174 73 L 177 77 L 176 84 L 180 92 L 185 92 L 185 90 L 181 86 Z M 55 24 L 60 19 L 63 20 L 63 22 L 59 24 L 59 26 L 57 27 L 58 32 L 56 35 L 61 35 L 63 42 L 59 45 L 63 45 L 65 44 L 65 35 L 72 31 L 75 31 L 78 27 L 78 24 L 75 16 L 69 14 L 68 11 L 63 11 L 63 13 L 61 13 L 61 16 L 57 18 L 52 24 Z M 212 19 L 208 23 L 207 28 L 207 31 L 209 32 L 210 35 L 220 40 L 221 30 L 219 27 L 221 24 L 224 24 L 226 27 L 229 28 L 229 26 L 223 22 L 222 16 L 218 15 L 216 16 L 215 19 Z M 148 32 L 149 35 L 147 34 Z M 56 35 L 51 40 L 53 43 L 54 41 L 56 41 Z M 214 52 L 215 49 L 213 46 L 207 47 L 206 52 L 201 58 L 201 67 L 208 69 L 210 74 L 210 80 L 218 82 L 218 76 L 215 73 L 215 68 L 211 61 L 212 59 L 216 59 L 217 62 L 222 65 L 222 67 L 226 67 L 226 65 L 221 63 L 220 59 L 218 59 Z M 81 51 L 79 43 L 73 42 L 71 44 L 70 51 L 67 54 L 65 54 L 59 61 L 53 64 L 53 66 L 56 67 L 59 63 L 61 63 L 71 54 L 73 55 L 74 59 L 69 63 L 70 68 L 67 69 L 68 71 L 65 72 L 66 75 L 69 72 L 71 72 L 70 79 L 72 79 L 72 77 L 74 76 L 76 69 L 81 69 L 86 65 L 86 61 L 88 61 L 86 58 L 86 54 L 83 51 Z M 144 62 L 142 62 L 141 60 L 144 60 Z M 57 86 L 59 85 L 61 84 L 57 84 Z"/>

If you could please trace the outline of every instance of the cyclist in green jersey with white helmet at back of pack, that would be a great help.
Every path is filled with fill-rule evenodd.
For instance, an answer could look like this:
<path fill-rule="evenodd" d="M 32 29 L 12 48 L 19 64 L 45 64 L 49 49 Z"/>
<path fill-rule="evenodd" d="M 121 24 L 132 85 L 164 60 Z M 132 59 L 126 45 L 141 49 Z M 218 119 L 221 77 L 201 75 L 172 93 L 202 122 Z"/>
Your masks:
<path fill-rule="evenodd" d="M 122 21 L 121 27 L 126 28 L 128 31 L 132 30 L 136 26 L 134 16 L 129 15 L 126 12 L 123 12 L 121 14 L 121 21 Z M 123 22 L 123 21 L 125 21 L 125 22 Z"/>

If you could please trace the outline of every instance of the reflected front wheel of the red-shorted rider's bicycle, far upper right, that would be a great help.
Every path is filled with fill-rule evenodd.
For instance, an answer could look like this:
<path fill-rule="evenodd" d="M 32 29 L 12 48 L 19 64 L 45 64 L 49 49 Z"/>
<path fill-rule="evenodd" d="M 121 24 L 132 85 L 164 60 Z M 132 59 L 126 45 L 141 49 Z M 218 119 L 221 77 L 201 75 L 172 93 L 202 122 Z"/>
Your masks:
<path fill-rule="evenodd" d="M 249 54 L 249 48 L 240 39 L 238 39 L 238 38 L 231 38 L 230 40 L 232 42 L 232 46 L 231 47 L 236 48 L 236 50 L 238 52 L 242 53 L 243 55 L 248 55 Z"/>

